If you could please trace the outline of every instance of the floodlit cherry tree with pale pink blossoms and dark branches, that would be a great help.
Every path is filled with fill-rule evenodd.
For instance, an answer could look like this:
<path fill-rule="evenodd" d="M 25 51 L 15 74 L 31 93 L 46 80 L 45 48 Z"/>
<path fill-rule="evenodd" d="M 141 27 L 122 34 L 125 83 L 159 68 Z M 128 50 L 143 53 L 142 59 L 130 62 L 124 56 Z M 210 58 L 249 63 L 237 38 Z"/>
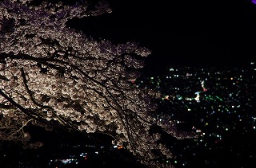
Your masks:
<path fill-rule="evenodd" d="M 110 12 L 106 2 L 0 2 L 0 139 L 41 147 L 29 143 L 30 125 L 102 133 L 146 166 L 171 166 L 158 162 L 173 154 L 151 127 L 177 139 L 195 135 L 178 131 L 167 115 L 154 117 L 151 98 L 158 93 L 131 83 L 150 50 L 96 41 L 66 26 L 72 18 Z"/>

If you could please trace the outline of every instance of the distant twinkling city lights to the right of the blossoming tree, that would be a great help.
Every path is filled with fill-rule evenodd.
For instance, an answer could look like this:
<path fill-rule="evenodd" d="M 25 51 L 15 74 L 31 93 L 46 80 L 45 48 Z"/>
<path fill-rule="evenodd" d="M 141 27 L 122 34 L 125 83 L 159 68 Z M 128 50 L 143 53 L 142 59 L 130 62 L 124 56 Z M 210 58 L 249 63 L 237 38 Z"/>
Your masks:
<path fill-rule="evenodd" d="M 163 107 L 158 112 L 172 115 L 181 127 L 187 123 L 190 126 L 188 131 L 200 135 L 178 152 L 179 157 L 174 161 L 177 165 L 192 164 L 183 159 L 188 153 L 192 152 L 194 160 L 201 155 L 199 150 L 191 149 L 202 147 L 204 152 L 213 155 L 224 150 L 222 143 L 229 143 L 228 135 L 233 132 L 238 137 L 256 134 L 255 71 L 254 62 L 246 67 L 233 68 L 171 67 L 162 76 L 142 76 L 135 82 L 138 88 L 151 88 L 162 93 L 161 99 L 156 98 Z M 174 143 L 174 146 L 178 144 Z M 245 146 L 243 142 L 239 145 Z M 246 145 L 250 148 L 251 144 Z M 234 149 L 236 147 L 230 145 L 229 152 L 234 152 Z M 242 150 L 236 150 L 238 156 L 249 160 L 256 158 L 256 154 L 244 156 Z M 203 159 L 205 166 L 211 166 L 217 165 L 221 158 L 217 161 Z"/>

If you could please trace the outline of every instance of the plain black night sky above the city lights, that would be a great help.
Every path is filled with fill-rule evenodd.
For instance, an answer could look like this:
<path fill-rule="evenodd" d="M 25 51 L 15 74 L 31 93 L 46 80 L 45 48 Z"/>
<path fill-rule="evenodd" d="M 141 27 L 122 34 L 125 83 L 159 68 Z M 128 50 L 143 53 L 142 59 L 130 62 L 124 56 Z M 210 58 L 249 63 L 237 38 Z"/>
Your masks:
<path fill-rule="evenodd" d="M 107 2 L 111 14 L 71 25 L 87 36 L 137 41 L 151 49 L 146 72 L 161 72 L 170 65 L 247 64 L 256 54 L 256 5 L 249 0 Z"/>

